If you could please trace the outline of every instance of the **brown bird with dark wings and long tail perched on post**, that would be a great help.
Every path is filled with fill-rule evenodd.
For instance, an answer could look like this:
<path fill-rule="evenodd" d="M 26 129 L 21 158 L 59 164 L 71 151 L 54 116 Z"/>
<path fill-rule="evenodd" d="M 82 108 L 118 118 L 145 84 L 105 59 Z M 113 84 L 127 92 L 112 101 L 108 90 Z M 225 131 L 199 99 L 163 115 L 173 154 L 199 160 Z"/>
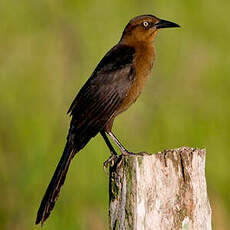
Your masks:
<path fill-rule="evenodd" d="M 118 155 L 110 139 L 121 155 L 133 154 L 113 134 L 113 122 L 141 94 L 153 68 L 156 35 L 160 29 L 169 27 L 180 26 L 151 14 L 132 18 L 120 41 L 105 54 L 80 89 L 68 110 L 71 121 L 66 145 L 41 201 L 35 224 L 43 225 L 49 217 L 71 160 L 97 134 L 103 137 L 111 152 L 105 167 Z"/>

